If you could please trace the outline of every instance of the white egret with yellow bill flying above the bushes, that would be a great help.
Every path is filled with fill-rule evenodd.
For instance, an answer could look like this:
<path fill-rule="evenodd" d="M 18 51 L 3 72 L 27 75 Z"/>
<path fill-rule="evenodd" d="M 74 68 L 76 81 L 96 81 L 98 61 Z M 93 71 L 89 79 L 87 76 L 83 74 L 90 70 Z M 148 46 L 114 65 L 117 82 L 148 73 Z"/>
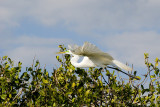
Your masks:
<path fill-rule="evenodd" d="M 107 67 L 111 65 L 126 71 L 132 71 L 132 68 L 115 60 L 110 54 L 102 52 L 97 46 L 90 42 L 84 42 L 82 46 L 68 45 L 68 50 L 58 52 L 58 54 L 70 54 L 72 57 L 70 62 L 73 66 L 79 68 L 87 67 Z M 80 57 L 84 57 L 81 62 L 78 62 Z"/>

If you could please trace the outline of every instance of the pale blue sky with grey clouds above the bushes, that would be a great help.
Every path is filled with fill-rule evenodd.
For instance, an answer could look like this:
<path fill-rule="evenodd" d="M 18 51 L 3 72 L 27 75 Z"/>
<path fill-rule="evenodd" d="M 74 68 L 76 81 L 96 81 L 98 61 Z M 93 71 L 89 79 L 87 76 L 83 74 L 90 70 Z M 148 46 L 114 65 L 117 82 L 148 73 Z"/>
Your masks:
<path fill-rule="evenodd" d="M 58 45 L 89 41 L 143 70 L 160 57 L 159 0 L 0 0 L 0 56 L 57 64 Z"/>

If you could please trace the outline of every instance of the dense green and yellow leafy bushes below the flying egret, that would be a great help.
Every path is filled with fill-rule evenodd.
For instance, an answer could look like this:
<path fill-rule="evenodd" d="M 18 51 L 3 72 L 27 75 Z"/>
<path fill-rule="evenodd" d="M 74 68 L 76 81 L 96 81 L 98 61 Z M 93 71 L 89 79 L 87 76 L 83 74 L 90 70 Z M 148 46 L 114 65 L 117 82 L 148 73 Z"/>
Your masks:
<path fill-rule="evenodd" d="M 64 51 L 63 46 L 59 46 Z M 160 71 L 158 63 L 148 61 L 141 80 L 123 79 L 102 68 L 75 68 L 70 55 L 57 56 L 60 67 L 51 75 L 37 60 L 26 71 L 22 63 L 14 66 L 4 56 L 0 59 L 0 106 L 61 107 L 61 106 L 160 106 Z M 102 73 L 103 72 L 103 73 Z M 102 75 L 103 74 L 103 75 Z M 136 71 L 133 72 L 136 76 Z M 148 86 L 147 86 L 148 85 Z"/>

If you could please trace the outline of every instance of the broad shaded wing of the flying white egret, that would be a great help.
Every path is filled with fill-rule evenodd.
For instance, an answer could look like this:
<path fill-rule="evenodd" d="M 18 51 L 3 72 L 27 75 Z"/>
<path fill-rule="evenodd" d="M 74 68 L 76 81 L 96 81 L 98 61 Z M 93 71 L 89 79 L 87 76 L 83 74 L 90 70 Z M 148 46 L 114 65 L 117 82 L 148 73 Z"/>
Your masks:
<path fill-rule="evenodd" d="M 72 53 L 76 55 L 87 56 L 97 66 L 106 66 L 111 64 L 113 58 L 108 53 L 102 52 L 95 45 L 85 42 L 83 46 L 69 46 Z"/>

